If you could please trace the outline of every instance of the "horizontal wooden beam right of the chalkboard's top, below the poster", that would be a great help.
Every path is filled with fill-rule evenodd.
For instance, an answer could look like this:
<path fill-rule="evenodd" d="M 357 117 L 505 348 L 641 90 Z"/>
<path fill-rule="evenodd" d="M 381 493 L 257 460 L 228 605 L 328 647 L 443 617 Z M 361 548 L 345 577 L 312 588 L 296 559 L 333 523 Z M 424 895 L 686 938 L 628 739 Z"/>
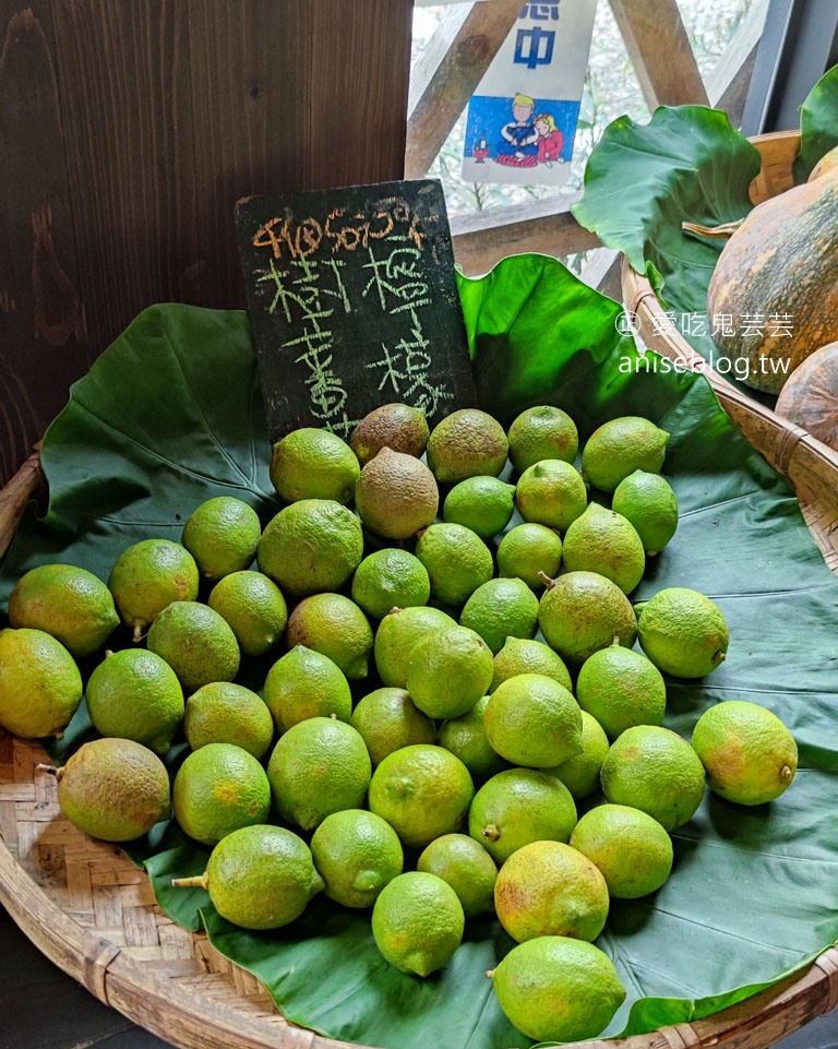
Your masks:
<path fill-rule="evenodd" d="M 491 208 L 451 219 L 454 259 L 466 276 L 487 273 L 506 255 L 524 251 L 567 255 L 601 247 L 596 234 L 585 229 L 570 213 L 582 196 L 567 194 L 531 204 Z"/>

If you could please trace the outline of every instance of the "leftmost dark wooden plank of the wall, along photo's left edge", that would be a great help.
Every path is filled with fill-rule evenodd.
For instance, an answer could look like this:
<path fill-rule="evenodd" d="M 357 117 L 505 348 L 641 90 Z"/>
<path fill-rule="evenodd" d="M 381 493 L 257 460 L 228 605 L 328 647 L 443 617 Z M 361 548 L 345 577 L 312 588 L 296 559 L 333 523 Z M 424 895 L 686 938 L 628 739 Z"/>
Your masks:
<path fill-rule="evenodd" d="M 84 373 L 84 337 L 48 0 L 0 0 L 0 486 Z"/>

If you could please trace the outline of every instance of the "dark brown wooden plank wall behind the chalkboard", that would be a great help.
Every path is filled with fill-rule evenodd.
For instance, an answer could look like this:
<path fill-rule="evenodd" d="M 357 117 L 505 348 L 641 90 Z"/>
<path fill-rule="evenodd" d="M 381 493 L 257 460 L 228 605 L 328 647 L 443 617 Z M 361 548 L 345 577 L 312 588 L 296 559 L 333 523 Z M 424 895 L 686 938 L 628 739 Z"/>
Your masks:
<path fill-rule="evenodd" d="M 400 178 L 411 0 L 0 0 L 0 484 L 144 307 L 243 307 L 239 196 Z"/>

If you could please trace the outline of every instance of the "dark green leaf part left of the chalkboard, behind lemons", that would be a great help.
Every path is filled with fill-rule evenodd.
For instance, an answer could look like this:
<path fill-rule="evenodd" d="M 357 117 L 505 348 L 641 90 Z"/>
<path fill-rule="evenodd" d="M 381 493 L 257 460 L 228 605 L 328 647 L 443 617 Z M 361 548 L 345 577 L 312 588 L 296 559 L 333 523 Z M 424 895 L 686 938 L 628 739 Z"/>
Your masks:
<path fill-rule="evenodd" d="M 9 564 L 20 573 L 60 557 L 107 580 L 132 543 L 179 539 L 202 499 L 237 496 L 266 512 L 265 441 L 247 315 L 145 310 L 73 384 L 45 436 L 49 509 L 39 520 L 28 508 L 0 573 L 0 607 Z"/>

